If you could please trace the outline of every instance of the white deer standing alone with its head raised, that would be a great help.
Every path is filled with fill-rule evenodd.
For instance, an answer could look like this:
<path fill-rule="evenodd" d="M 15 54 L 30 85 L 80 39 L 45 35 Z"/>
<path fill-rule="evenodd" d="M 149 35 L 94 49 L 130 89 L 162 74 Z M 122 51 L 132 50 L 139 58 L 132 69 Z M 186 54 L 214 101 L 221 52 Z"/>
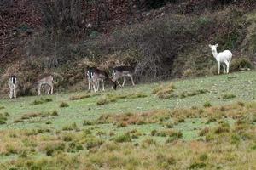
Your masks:
<path fill-rule="evenodd" d="M 232 53 L 230 52 L 230 50 L 225 50 L 221 53 L 218 53 L 217 52 L 218 44 L 209 45 L 209 47 L 212 49 L 212 54 L 218 62 L 218 74 L 219 74 L 219 71 L 220 71 L 220 65 L 223 66 L 224 73 L 229 73 L 229 71 L 230 71 L 230 62 L 231 62 L 231 59 L 232 59 Z"/>

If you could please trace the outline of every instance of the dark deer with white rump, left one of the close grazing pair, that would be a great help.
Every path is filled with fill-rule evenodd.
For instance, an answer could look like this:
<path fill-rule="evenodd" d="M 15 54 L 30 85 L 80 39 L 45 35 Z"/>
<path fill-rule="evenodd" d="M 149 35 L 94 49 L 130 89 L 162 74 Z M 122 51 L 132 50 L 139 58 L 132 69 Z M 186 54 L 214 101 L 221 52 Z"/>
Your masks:
<path fill-rule="evenodd" d="M 94 92 L 96 93 L 99 90 L 100 82 L 102 82 L 102 91 L 105 91 L 104 83 L 106 80 L 111 80 L 108 77 L 108 73 L 106 71 L 101 71 L 96 67 L 90 67 L 87 71 L 88 77 L 88 90 L 90 91 L 90 87 L 94 88 Z"/>

